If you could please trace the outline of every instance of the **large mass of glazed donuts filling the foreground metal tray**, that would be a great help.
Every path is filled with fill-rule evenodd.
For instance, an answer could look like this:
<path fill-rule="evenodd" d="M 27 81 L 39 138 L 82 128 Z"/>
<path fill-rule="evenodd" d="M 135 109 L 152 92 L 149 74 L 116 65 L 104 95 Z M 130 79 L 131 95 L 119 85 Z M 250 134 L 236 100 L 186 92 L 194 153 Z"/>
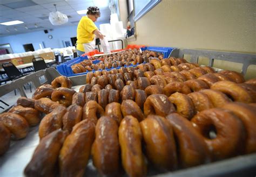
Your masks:
<path fill-rule="evenodd" d="M 56 166 L 83 176 L 90 155 L 100 175 L 145 176 L 148 165 L 166 172 L 256 152 L 256 79 L 154 56 L 85 80 L 78 93 L 64 76 L 36 89 L 30 100 L 46 115 L 26 176 Z"/>

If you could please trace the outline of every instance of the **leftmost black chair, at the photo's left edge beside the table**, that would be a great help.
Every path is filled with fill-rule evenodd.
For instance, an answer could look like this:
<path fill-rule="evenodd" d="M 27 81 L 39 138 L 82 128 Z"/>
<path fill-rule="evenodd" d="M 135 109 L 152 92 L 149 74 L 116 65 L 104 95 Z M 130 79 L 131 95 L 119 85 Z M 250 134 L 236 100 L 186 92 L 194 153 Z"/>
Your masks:
<path fill-rule="evenodd" d="M 2 64 L 2 67 L 4 68 L 5 73 L 7 74 L 7 76 L 9 77 L 9 79 L 11 81 L 19 79 L 23 76 L 25 76 L 24 73 L 21 73 L 18 68 L 16 68 L 16 66 L 14 64 L 12 64 L 11 62 L 5 62 Z M 29 84 L 30 87 L 30 92 L 32 92 L 31 89 L 31 84 Z M 25 87 L 24 87 L 25 88 Z M 26 88 L 25 88 L 26 89 Z M 16 95 L 16 90 L 14 90 L 15 95 Z"/>

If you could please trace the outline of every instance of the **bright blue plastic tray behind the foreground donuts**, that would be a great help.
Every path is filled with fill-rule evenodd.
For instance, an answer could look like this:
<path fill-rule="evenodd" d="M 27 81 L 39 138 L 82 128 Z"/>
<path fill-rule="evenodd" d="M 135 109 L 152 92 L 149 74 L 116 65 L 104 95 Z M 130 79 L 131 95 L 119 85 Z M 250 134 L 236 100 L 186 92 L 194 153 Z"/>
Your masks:
<path fill-rule="evenodd" d="M 144 47 L 141 49 L 142 49 L 142 51 L 149 50 L 149 51 L 154 51 L 154 52 L 160 52 L 160 53 L 164 54 L 164 58 L 168 58 L 170 53 L 172 52 L 172 50 L 175 48 L 172 48 L 172 47 Z M 87 59 L 88 58 L 85 55 L 85 56 L 80 56 L 75 59 L 66 61 L 66 62 L 62 63 L 61 65 L 57 66 L 57 70 L 58 70 L 59 74 L 68 76 L 68 77 L 87 74 L 89 72 L 74 74 L 73 70 L 71 68 L 72 65 L 75 65 L 76 63 L 79 63 L 79 62 L 87 60 Z M 95 60 L 95 61 L 93 61 L 93 64 L 96 64 L 98 62 L 100 62 L 100 60 Z M 138 65 L 130 65 L 130 66 L 125 65 L 124 67 L 136 67 L 136 66 L 138 66 Z M 119 68 L 120 67 L 117 67 L 116 69 L 119 69 Z M 113 67 L 109 68 L 109 69 L 105 69 L 105 70 L 111 70 L 111 69 L 113 69 Z M 96 70 L 92 70 L 91 72 L 95 72 L 95 71 Z"/>

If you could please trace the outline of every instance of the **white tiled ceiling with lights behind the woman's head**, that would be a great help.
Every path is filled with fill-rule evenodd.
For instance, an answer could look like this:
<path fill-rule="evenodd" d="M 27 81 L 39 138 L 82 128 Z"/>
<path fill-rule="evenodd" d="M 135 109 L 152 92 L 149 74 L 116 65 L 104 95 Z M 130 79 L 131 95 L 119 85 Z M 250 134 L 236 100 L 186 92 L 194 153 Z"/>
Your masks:
<path fill-rule="evenodd" d="M 56 4 L 58 11 L 69 17 L 68 23 L 59 26 L 53 26 L 50 23 L 49 13 L 56 11 L 53 4 Z M 111 13 L 109 0 L 0 0 L 0 23 L 12 20 L 24 22 L 11 26 L 0 25 L 0 37 L 56 29 L 63 26 L 77 26 L 80 18 L 85 15 L 79 15 L 76 11 L 86 10 L 89 6 L 98 6 L 100 9 L 100 17 L 97 22 L 109 21 Z M 38 27 L 35 27 L 35 24 Z M 25 26 L 28 27 L 28 30 L 25 29 Z"/>

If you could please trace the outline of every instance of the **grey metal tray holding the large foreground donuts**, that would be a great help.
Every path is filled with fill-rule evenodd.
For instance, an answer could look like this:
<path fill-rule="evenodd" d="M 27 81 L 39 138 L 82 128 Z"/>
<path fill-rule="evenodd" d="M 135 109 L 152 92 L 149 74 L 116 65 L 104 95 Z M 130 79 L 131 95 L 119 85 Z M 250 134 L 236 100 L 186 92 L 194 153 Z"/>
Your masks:
<path fill-rule="evenodd" d="M 39 70 L 36 73 L 22 77 L 3 86 L 0 86 L 0 96 L 3 96 L 14 89 L 23 90 L 23 85 L 28 82 L 33 82 L 35 87 L 41 85 L 39 76 L 45 76 L 50 83 L 55 77 L 60 74 L 54 68 Z M 85 84 L 86 76 L 70 77 L 73 82 L 73 89 L 78 90 L 79 85 Z M 42 83 L 43 84 L 43 83 Z M 22 96 L 26 96 L 24 90 L 21 91 Z M 30 128 L 28 136 L 25 139 L 11 141 L 9 150 L 0 157 L 0 176 L 24 176 L 23 171 L 25 166 L 30 161 L 33 151 L 39 143 L 38 126 Z M 86 166 L 84 176 L 98 176 L 95 167 L 92 165 L 91 159 Z M 180 169 L 178 171 L 159 174 L 153 168 L 148 169 L 148 176 L 255 176 L 256 175 L 256 153 L 240 155 L 234 158 L 225 159 L 210 164 L 200 165 L 192 168 Z M 126 175 L 125 175 L 126 176 Z"/>

